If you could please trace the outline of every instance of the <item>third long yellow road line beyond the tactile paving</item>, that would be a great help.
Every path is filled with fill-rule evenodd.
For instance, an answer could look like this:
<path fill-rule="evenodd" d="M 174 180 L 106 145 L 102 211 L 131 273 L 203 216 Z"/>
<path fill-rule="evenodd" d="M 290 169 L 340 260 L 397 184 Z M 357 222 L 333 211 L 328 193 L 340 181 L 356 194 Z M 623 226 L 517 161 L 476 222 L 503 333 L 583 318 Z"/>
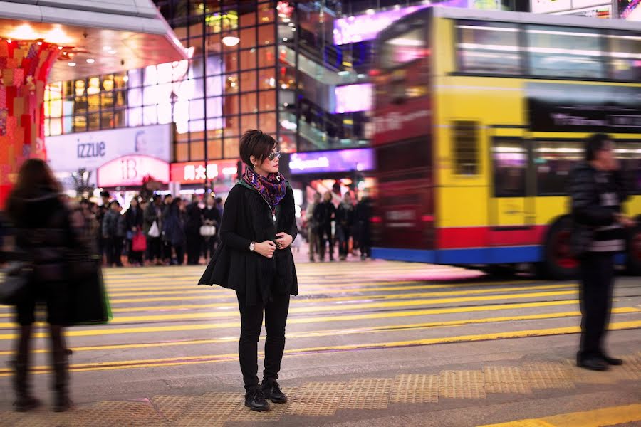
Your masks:
<path fill-rule="evenodd" d="M 293 324 L 306 324 L 306 323 L 320 323 L 320 322 L 343 322 L 355 320 L 370 320 L 370 319 L 387 319 L 392 317 L 411 317 L 422 315 L 444 315 L 461 312 L 479 312 L 479 311 L 494 311 L 494 310 L 517 310 L 520 308 L 531 307 L 553 307 L 558 305 L 575 305 L 578 300 L 561 300 L 561 301 L 543 301 L 543 302 L 520 302 L 496 305 L 471 305 L 467 307 L 448 307 L 448 308 L 432 308 L 426 310 L 407 310 L 407 311 L 390 311 L 390 312 L 376 312 L 376 313 L 363 313 L 358 315 L 338 315 L 338 316 L 321 316 L 321 317 L 295 317 L 288 319 L 288 325 Z M 636 310 L 636 309 L 632 309 Z M 238 316 L 238 313 L 236 313 Z M 90 330 L 68 330 L 66 336 L 68 337 L 90 337 L 98 335 L 112 335 L 112 334 L 137 334 L 137 333 L 150 333 L 150 332 L 177 332 L 177 331 L 190 331 L 190 330 L 210 330 L 221 329 L 225 327 L 238 327 L 240 322 L 231 323 L 206 323 L 204 325 L 169 325 L 169 326 L 141 326 L 141 327 L 127 327 L 127 328 L 109 328 L 98 327 L 98 329 Z M 36 338 L 48 337 L 44 332 L 36 332 L 33 334 Z M 0 334 L 1 339 L 14 339 L 16 334 Z"/>

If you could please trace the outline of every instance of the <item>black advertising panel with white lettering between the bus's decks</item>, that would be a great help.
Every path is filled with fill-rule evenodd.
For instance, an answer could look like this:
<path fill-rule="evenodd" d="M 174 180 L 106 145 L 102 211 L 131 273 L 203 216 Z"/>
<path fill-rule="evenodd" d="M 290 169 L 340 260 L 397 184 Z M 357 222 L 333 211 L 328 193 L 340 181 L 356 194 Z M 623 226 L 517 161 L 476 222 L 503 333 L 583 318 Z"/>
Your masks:
<path fill-rule="evenodd" d="M 533 132 L 641 132 L 641 88 L 528 83 Z"/>

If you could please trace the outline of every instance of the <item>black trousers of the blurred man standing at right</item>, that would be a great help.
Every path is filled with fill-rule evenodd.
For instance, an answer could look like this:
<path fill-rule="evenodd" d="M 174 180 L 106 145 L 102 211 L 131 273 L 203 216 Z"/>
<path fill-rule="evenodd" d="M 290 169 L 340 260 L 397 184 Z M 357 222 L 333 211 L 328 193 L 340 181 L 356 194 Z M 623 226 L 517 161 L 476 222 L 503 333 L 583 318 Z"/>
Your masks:
<path fill-rule="evenodd" d="M 605 354 L 603 341 L 612 311 L 614 275 L 612 253 L 588 253 L 580 260 L 581 359 Z"/>

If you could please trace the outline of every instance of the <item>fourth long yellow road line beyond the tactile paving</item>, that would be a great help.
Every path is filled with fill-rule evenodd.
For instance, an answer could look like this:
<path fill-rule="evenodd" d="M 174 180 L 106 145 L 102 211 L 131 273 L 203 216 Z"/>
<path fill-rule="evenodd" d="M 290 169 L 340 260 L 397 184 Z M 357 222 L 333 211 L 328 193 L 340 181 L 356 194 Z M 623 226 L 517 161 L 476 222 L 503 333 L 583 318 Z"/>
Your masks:
<path fill-rule="evenodd" d="M 390 308 L 390 307 L 413 307 L 416 305 L 437 305 L 437 304 L 450 304 L 453 302 L 477 302 L 489 300 L 516 300 L 521 298 L 531 297 L 554 297 L 561 295 L 576 295 L 578 292 L 575 290 L 562 290 L 555 292 L 531 292 L 524 294 L 505 294 L 505 295 L 483 295 L 476 297 L 454 297 L 454 298 L 434 298 L 434 299 L 421 299 L 421 300 L 404 300 L 392 302 L 366 302 L 356 304 L 341 304 L 341 305 L 313 305 L 310 307 L 292 307 L 290 313 L 313 313 L 313 312 L 336 312 L 341 310 L 355 310 L 355 309 L 370 309 L 370 308 Z M 371 298 L 368 298 L 371 299 Z M 218 305 L 219 309 L 236 307 L 235 304 L 221 304 Z M 235 316 L 235 312 L 188 312 L 173 315 L 142 315 L 142 316 L 123 316 L 114 317 L 113 323 L 135 323 L 135 322 L 159 322 L 166 320 L 204 320 L 204 319 L 219 319 L 221 317 Z M 16 324 L 13 322 L 0 322 L 0 328 L 14 327 Z"/>

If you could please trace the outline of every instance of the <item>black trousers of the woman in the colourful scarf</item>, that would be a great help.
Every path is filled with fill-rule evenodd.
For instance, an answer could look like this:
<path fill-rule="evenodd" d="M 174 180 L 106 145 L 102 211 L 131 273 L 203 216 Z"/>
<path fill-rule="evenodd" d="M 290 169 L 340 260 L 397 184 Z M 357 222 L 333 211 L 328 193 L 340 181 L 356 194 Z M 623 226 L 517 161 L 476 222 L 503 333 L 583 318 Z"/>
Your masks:
<path fill-rule="evenodd" d="M 266 305 L 262 301 L 256 305 L 246 305 L 245 295 L 238 294 L 241 313 L 241 337 L 238 354 L 246 390 L 259 385 L 258 342 L 265 313 L 265 369 L 263 378 L 276 381 L 281 371 L 281 361 L 285 351 L 285 326 L 289 312 L 289 295 L 273 295 Z"/>

